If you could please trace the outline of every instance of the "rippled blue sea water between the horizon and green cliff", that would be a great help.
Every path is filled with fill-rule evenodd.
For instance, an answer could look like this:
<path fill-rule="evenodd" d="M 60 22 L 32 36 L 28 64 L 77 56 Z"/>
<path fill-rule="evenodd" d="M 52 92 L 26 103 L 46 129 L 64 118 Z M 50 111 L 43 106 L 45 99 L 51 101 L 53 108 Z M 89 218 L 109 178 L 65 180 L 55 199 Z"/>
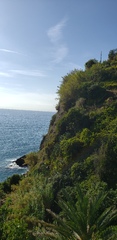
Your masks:
<path fill-rule="evenodd" d="M 53 112 L 0 109 L 0 182 L 26 168 L 14 163 L 17 158 L 38 151 L 48 132 Z"/>

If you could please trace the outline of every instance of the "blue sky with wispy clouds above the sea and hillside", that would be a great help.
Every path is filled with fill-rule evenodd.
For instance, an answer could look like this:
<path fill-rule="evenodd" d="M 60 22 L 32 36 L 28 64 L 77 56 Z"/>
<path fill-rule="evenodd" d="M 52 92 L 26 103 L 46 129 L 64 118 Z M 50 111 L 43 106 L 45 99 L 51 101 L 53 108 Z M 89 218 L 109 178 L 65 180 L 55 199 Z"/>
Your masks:
<path fill-rule="evenodd" d="M 55 112 L 62 78 L 115 48 L 116 0 L 0 0 L 0 109 Z"/>

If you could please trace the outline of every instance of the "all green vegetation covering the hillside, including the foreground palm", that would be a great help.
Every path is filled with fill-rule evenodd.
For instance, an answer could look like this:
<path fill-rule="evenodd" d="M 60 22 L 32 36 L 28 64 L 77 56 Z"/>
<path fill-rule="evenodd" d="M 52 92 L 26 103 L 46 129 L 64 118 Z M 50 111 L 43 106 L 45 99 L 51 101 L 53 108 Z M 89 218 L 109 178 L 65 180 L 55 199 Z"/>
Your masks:
<path fill-rule="evenodd" d="M 0 184 L 1 240 L 117 239 L 117 50 L 73 70 L 29 171 Z"/>

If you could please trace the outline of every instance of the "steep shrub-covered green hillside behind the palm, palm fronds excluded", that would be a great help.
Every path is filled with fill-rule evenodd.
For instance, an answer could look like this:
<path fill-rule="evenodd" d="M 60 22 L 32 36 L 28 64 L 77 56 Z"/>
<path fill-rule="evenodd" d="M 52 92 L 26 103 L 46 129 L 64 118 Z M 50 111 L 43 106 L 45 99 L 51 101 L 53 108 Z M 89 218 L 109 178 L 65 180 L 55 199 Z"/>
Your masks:
<path fill-rule="evenodd" d="M 2 240 L 40 239 L 40 221 L 53 221 L 46 209 L 60 212 L 58 201 L 64 190 L 75 203 L 77 185 L 84 193 L 90 190 L 92 196 L 97 189 L 106 191 L 102 210 L 116 206 L 116 51 L 107 61 L 89 60 L 84 71 L 67 74 L 58 96 L 57 113 L 39 152 L 25 158 L 29 172 L 1 184 Z M 113 224 L 117 224 L 117 218 Z"/>

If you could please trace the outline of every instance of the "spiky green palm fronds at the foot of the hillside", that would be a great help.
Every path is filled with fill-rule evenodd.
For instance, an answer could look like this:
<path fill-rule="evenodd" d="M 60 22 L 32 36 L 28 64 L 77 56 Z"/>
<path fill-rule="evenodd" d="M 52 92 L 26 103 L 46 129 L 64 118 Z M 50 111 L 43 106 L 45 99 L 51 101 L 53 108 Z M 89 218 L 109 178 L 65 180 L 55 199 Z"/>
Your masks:
<path fill-rule="evenodd" d="M 62 209 L 60 216 L 47 209 L 56 220 L 52 228 L 56 230 L 58 236 L 61 236 L 58 239 L 99 240 L 102 236 L 103 240 L 114 239 L 117 236 L 117 229 L 113 225 L 109 227 L 109 224 L 117 218 L 117 210 L 112 207 L 104 209 L 106 193 L 97 189 L 95 193 L 94 190 L 90 190 L 84 194 L 78 187 L 76 194 L 74 203 L 65 191 L 65 200 L 59 201 Z"/>

